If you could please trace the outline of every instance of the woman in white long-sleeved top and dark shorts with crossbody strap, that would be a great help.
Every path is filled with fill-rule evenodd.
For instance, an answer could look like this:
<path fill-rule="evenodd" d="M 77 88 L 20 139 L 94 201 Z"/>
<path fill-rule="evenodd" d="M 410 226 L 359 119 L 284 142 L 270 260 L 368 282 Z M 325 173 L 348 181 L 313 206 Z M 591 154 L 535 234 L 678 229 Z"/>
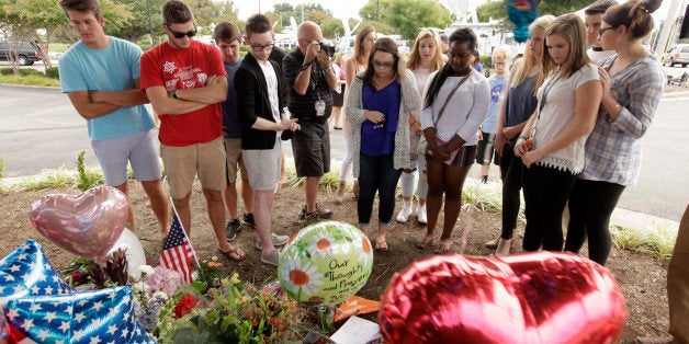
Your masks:
<path fill-rule="evenodd" d="M 450 237 L 462 205 L 462 187 L 476 157 L 476 130 L 490 102 L 488 81 L 470 62 L 475 49 L 476 36 L 471 28 L 454 31 L 450 35 L 448 64 L 429 76 L 423 92 L 421 128 L 428 142 L 428 225 L 417 246 L 426 249 L 434 241 L 444 195 L 444 223 L 437 253 L 451 250 Z"/>

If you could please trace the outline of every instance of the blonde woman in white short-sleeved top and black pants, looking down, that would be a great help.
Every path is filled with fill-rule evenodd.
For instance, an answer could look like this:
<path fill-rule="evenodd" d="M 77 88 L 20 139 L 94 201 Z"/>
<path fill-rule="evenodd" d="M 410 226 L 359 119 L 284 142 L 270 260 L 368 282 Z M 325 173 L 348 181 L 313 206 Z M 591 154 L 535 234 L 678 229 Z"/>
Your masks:
<path fill-rule="evenodd" d="M 586 31 L 577 14 L 561 15 L 547 26 L 541 68 L 539 105 L 515 145 L 515 154 L 526 167 L 522 248 L 562 251 L 562 214 L 584 170 L 584 146 L 602 95 L 598 67 L 586 54 Z"/>

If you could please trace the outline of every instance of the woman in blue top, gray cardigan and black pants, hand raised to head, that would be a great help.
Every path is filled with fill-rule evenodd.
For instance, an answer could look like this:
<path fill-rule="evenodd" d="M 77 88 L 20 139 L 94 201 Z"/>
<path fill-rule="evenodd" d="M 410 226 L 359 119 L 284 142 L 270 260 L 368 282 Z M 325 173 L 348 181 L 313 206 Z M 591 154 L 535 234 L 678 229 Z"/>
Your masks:
<path fill-rule="evenodd" d="M 366 70 L 351 84 L 346 107 L 352 124 L 353 172 L 360 187 L 359 226 L 366 232 L 377 192 L 375 250 L 380 251 L 388 250 L 386 236 L 395 210 L 395 188 L 402 170 L 410 167 L 407 114 L 421 105 L 414 74 L 400 59 L 394 41 L 376 42 Z"/>

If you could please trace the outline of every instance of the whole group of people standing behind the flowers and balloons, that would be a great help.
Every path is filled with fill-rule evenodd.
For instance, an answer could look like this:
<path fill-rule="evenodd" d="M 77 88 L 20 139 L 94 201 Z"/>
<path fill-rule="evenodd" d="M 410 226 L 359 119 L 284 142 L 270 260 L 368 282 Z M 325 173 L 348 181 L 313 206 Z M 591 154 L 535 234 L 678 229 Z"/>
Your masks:
<path fill-rule="evenodd" d="M 406 59 L 395 42 L 376 39 L 373 27 L 364 26 L 353 55 L 339 64 L 343 72 L 336 72 L 313 22 L 298 26 L 298 47 L 290 54 L 274 46 L 272 25 L 261 14 L 249 18 L 244 35 L 233 23 L 218 24 L 213 47 L 192 39 L 196 28 L 190 8 L 169 0 L 161 25 L 168 39 L 143 53 L 104 34 L 98 0 L 59 4 L 81 38 L 60 59 L 63 92 L 88 121 L 105 183 L 127 194 L 131 163 L 165 234 L 170 221 L 161 157 L 188 233 L 197 177 L 218 251 L 230 260 L 244 259 L 245 251 L 229 241 L 245 222 L 257 228 L 261 262 L 275 266 L 275 246 L 287 241 L 272 233 L 270 214 L 284 165 L 283 140 L 291 140 L 297 176 L 306 180 L 298 219 L 308 223 L 332 216 L 316 200 L 320 177 L 330 170 L 327 119 L 332 90 L 341 84 L 343 96 L 335 107 L 346 118 L 347 151 L 337 195 L 341 199 L 352 171 L 364 232 L 379 195 L 375 250 L 388 250 L 402 180 L 404 200 L 396 220 L 408 220 L 416 192 L 417 219 L 427 226 L 417 246 L 427 249 L 437 240 L 442 208 L 436 252 L 450 252 L 466 175 L 474 161 L 490 163 L 495 141 L 502 228 L 486 245 L 509 253 L 523 190 L 524 251 L 578 253 L 588 238 L 589 257 L 600 264 L 610 252 L 610 215 L 624 187 L 636 181 L 641 138 L 665 85 L 657 59 L 642 44 L 660 0 L 599 0 L 584 21 L 576 14 L 540 16 L 515 66 L 508 66 L 508 51 L 494 51 L 497 73 L 490 79 L 473 68 L 477 42 L 470 28 L 454 31 L 447 43 L 422 30 Z M 242 43 L 249 46 L 244 58 Z M 148 102 L 160 118 L 159 153 L 155 123 L 144 107 Z M 128 222 L 135 230 L 131 209 Z M 685 293 L 682 288 L 674 293 Z"/>

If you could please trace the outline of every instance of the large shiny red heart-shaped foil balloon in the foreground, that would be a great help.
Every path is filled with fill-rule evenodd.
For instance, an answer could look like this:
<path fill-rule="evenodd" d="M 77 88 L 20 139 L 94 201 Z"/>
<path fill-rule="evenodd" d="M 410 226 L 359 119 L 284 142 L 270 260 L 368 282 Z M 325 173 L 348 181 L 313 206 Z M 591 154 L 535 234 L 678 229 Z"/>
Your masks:
<path fill-rule="evenodd" d="M 436 255 L 393 276 L 379 324 L 389 343 L 614 343 L 626 306 L 580 255 Z"/>

